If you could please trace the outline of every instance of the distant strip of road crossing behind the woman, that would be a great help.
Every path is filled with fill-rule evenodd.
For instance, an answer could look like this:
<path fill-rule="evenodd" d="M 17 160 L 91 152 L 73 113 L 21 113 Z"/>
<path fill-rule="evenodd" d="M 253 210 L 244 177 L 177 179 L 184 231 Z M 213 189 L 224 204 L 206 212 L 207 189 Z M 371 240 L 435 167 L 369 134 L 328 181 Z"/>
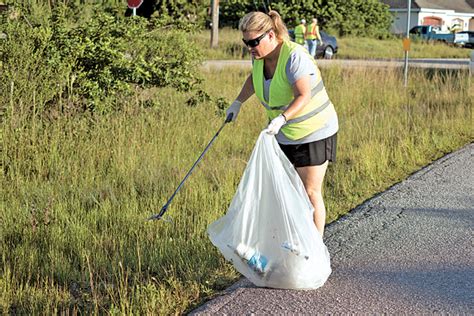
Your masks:
<path fill-rule="evenodd" d="M 403 67 L 404 61 L 401 59 L 393 60 L 360 60 L 360 59 L 317 59 L 319 67 L 340 66 L 349 67 Z M 250 60 L 207 60 L 202 68 L 209 70 L 211 68 L 223 68 L 228 66 L 252 67 Z M 415 68 L 437 68 L 437 69 L 469 69 L 469 59 L 410 59 L 408 67 Z"/>

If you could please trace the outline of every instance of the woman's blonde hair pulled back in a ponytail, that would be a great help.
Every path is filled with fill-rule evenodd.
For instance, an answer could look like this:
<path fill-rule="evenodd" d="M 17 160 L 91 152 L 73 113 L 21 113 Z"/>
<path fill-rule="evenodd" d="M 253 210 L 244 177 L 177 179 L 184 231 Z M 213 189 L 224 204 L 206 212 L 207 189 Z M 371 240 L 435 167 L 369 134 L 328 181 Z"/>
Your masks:
<path fill-rule="evenodd" d="M 288 29 L 281 19 L 281 16 L 275 10 L 268 14 L 263 12 L 247 13 L 239 22 L 239 30 L 245 32 L 265 33 L 273 30 L 279 42 L 289 40 Z"/>

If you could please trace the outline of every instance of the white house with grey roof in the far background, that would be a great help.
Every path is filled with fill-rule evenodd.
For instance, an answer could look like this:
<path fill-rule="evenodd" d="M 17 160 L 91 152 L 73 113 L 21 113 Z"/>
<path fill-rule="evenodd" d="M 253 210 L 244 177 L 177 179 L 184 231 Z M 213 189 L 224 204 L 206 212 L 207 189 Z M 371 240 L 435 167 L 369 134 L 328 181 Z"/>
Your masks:
<path fill-rule="evenodd" d="M 393 16 L 391 31 L 406 33 L 408 0 L 381 0 Z M 474 31 L 474 0 L 412 0 L 410 29 L 433 25 L 441 31 Z"/>

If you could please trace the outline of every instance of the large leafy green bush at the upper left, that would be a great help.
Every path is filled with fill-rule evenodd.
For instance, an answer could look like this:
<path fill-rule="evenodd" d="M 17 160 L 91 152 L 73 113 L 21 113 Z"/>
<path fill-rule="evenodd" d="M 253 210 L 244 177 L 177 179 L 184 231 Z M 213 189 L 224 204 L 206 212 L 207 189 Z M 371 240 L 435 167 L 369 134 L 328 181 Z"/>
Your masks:
<path fill-rule="evenodd" d="M 21 7 L 0 26 L 7 34 L 0 46 L 0 84 L 7 90 L 0 97 L 2 112 L 25 92 L 37 111 L 59 106 L 108 112 L 117 107 L 118 95 L 136 87 L 198 90 L 202 57 L 187 40 L 198 30 L 190 22 L 124 18 L 103 9 L 81 19 L 65 5 L 30 22 L 30 11 Z"/>

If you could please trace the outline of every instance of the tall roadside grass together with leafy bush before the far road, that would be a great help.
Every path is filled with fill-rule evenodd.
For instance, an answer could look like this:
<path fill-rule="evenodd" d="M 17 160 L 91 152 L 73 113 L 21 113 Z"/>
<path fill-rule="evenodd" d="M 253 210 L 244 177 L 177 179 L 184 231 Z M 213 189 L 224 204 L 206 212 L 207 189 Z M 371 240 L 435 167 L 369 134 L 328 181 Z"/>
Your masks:
<path fill-rule="evenodd" d="M 137 20 L 147 31 L 137 35 L 143 28 L 121 24 L 113 7 L 47 15 L 34 3 L 28 22 L 0 20 L 0 313 L 185 313 L 239 278 L 206 228 L 226 212 L 265 127 L 254 98 L 171 219 L 146 219 L 222 124 L 248 70 L 200 70 L 191 29 L 167 17 Z M 474 140 L 466 71 L 414 69 L 408 88 L 397 69 L 322 75 L 340 119 L 328 221 Z"/>

